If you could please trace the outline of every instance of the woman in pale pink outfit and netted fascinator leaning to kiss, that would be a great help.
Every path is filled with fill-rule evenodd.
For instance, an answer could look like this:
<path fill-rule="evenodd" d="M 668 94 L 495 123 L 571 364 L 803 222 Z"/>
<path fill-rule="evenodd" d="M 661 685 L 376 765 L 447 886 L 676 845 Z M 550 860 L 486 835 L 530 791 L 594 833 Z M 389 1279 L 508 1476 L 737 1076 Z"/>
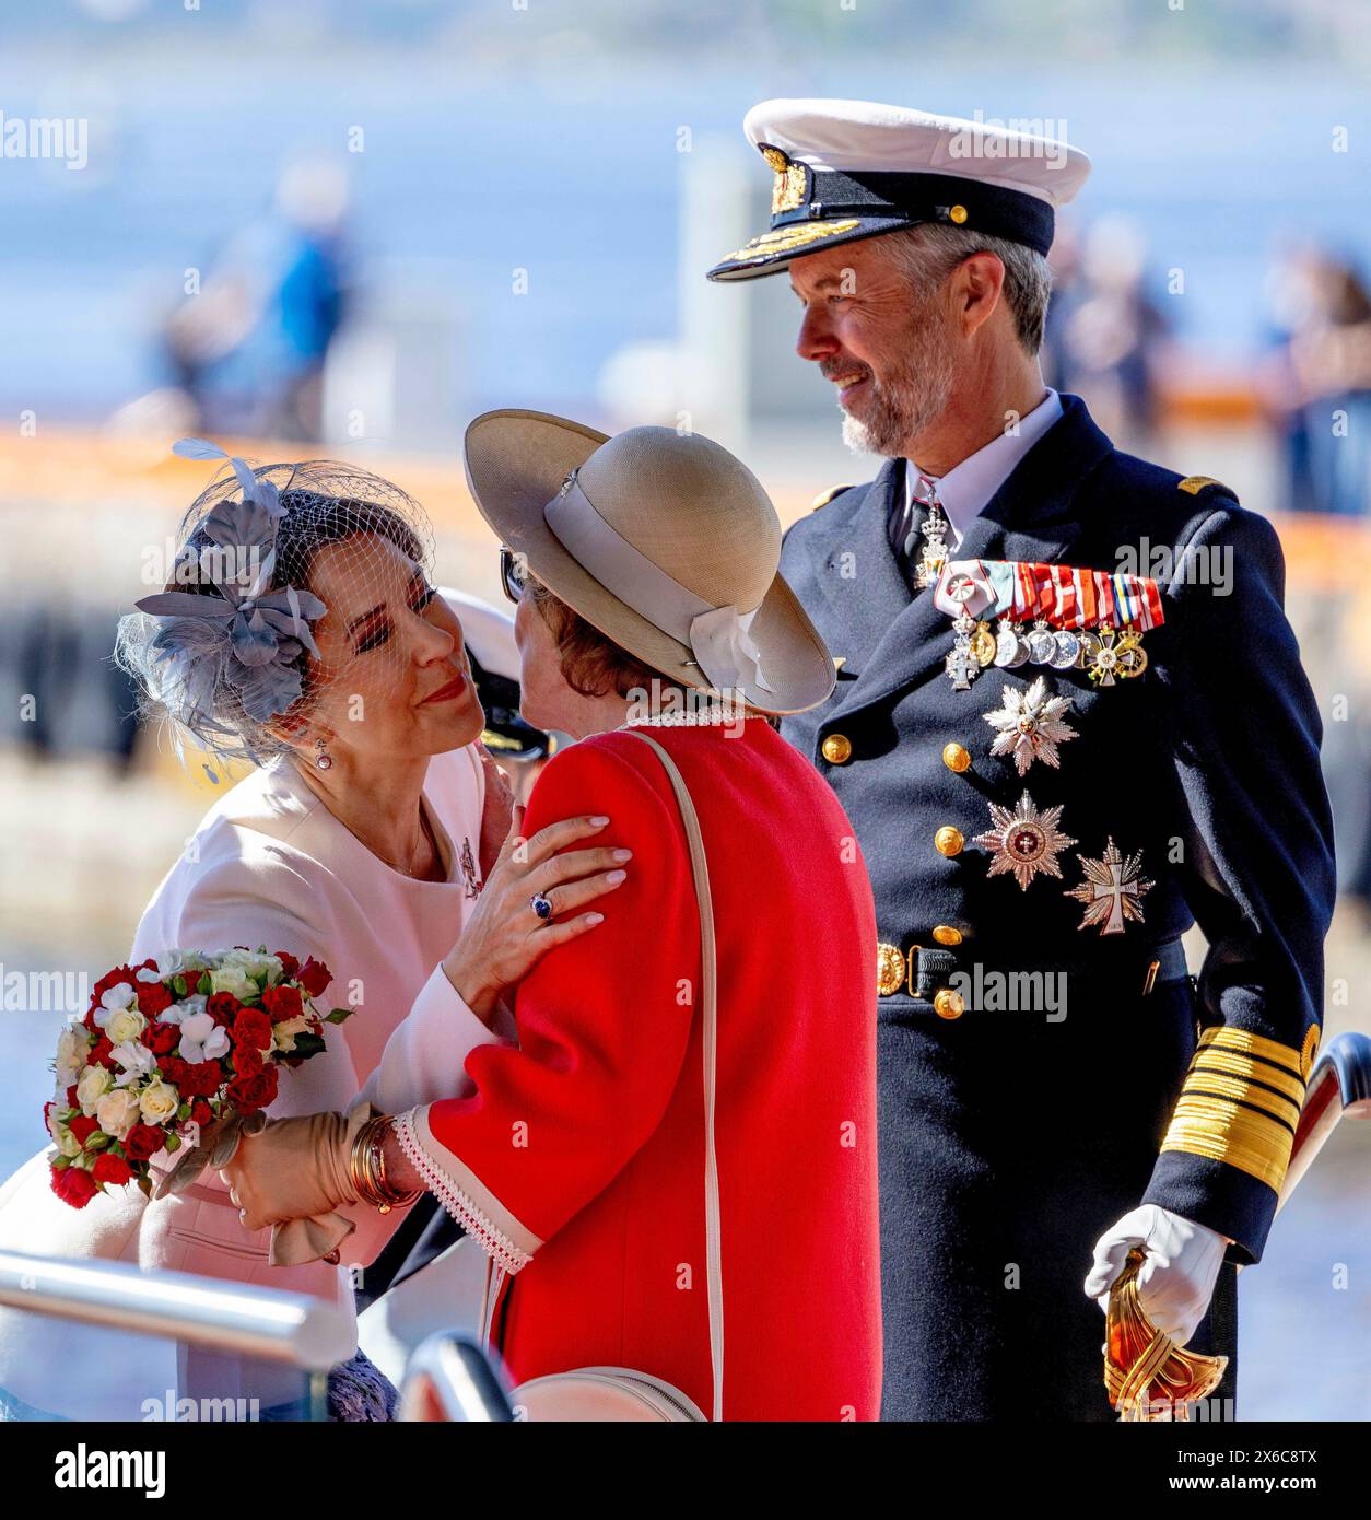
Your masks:
<path fill-rule="evenodd" d="M 497 863 L 521 809 L 479 743 L 462 628 L 426 575 L 427 524 L 395 486 L 336 464 L 252 471 L 233 461 L 192 506 L 181 543 L 167 590 L 123 620 L 120 655 L 155 710 L 257 769 L 210 809 L 158 886 L 129 964 L 240 944 L 331 968 L 322 1005 L 356 1012 L 284 1075 L 274 1116 L 345 1108 L 368 1079 L 383 1110 L 388 1090 L 420 1084 L 444 1096 L 470 1049 L 512 1035 L 512 1021 L 479 1020 L 444 970 L 464 927 L 474 912 L 503 910 L 492 952 L 502 977 L 532 964 L 558 939 L 532 933 L 532 909 L 502 903 L 555 888 L 568 909 L 613 889 L 623 871 L 606 850 L 550 859 L 578 839 L 593 845 L 603 824 L 562 821 Z M 518 891 L 483 898 L 497 871 Z M 596 921 L 581 914 L 556 929 L 572 938 Z M 122 1259 L 350 1306 L 348 1265 L 372 1260 L 401 1214 L 348 1218 L 357 1230 L 340 1265 L 271 1266 L 269 1233 L 243 1228 L 213 1170 L 157 1202 L 112 1189 L 78 1211 L 52 1195 L 40 1154 L 0 1190 L 0 1248 Z M 0 1417 L 138 1418 L 143 1400 L 169 1388 L 257 1398 L 268 1417 L 293 1412 L 298 1382 L 284 1371 L 184 1348 L 176 1359 L 157 1341 L 129 1339 L 108 1382 L 62 1379 L 84 1335 L 0 1313 Z M 340 1418 L 385 1418 L 391 1401 L 362 1359 L 331 1394 Z"/>

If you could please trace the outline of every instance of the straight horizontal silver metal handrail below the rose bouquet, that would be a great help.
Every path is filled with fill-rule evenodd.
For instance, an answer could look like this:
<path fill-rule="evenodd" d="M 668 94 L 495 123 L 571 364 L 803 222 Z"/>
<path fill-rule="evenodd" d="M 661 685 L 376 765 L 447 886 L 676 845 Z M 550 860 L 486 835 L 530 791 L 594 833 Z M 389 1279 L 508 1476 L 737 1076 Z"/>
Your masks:
<path fill-rule="evenodd" d="M 307 1373 L 327 1371 L 357 1347 L 356 1321 L 337 1304 L 190 1272 L 141 1272 L 128 1262 L 0 1251 L 0 1306 Z"/>

